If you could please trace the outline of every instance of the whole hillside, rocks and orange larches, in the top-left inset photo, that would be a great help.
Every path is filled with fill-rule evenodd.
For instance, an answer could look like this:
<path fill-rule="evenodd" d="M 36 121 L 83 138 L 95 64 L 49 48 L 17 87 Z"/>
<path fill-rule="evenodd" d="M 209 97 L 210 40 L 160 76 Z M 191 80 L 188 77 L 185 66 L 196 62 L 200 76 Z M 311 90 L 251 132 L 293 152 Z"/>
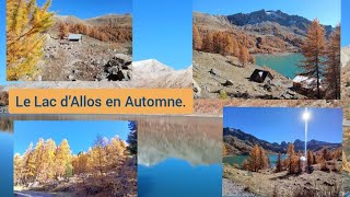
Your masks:
<path fill-rule="evenodd" d="M 131 78 L 131 16 L 102 15 L 82 20 L 55 15 L 46 33 L 44 59 L 36 81 L 129 81 Z M 82 34 L 81 42 L 59 36 L 60 25 L 69 33 Z M 122 58 L 116 56 L 122 55 Z M 126 57 L 128 56 L 128 57 Z M 125 61 L 128 59 L 127 61 Z M 120 60 L 122 62 L 120 62 Z M 118 61 L 118 63 L 117 63 Z M 119 72 L 119 73 L 118 73 Z M 118 77 L 116 77 L 118 73 Z"/>

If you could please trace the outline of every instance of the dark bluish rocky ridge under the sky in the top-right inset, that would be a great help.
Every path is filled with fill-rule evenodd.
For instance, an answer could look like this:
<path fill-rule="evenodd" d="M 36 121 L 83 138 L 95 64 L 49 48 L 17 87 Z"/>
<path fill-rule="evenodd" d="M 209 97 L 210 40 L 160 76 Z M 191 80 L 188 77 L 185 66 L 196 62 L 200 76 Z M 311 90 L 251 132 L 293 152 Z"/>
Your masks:
<path fill-rule="evenodd" d="M 237 13 L 233 15 L 228 15 L 228 20 L 237 26 L 245 25 L 256 25 L 267 22 L 277 23 L 281 26 L 290 27 L 296 34 L 305 35 L 307 32 L 307 27 L 311 24 L 311 21 L 299 16 L 299 15 L 290 15 L 280 10 L 277 11 L 266 11 L 259 10 L 252 13 Z M 332 31 L 330 25 L 324 25 L 327 34 Z"/>

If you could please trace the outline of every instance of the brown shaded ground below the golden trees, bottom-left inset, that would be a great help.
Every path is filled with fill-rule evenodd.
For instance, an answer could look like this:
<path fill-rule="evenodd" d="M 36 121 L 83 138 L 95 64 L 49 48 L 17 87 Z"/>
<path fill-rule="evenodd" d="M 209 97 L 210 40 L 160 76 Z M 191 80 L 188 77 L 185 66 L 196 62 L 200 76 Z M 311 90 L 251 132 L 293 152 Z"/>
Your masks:
<path fill-rule="evenodd" d="M 69 178 L 38 182 L 25 187 L 14 186 L 16 196 L 70 197 L 70 196 L 137 196 L 137 158 L 130 158 L 124 166 L 103 174 L 80 174 Z"/>

